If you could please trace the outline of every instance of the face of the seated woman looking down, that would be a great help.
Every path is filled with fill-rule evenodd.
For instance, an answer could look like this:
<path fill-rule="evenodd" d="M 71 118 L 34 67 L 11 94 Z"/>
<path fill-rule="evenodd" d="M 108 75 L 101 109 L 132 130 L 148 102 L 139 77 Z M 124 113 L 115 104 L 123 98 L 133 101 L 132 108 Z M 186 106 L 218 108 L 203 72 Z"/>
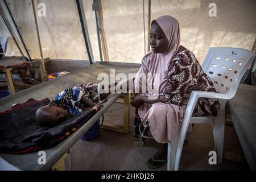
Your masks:
<path fill-rule="evenodd" d="M 158 23 L 154 22 L 150 30 L 150 46 L 154 53 L 163 53 L 169 46 L 168 39 Z"/>

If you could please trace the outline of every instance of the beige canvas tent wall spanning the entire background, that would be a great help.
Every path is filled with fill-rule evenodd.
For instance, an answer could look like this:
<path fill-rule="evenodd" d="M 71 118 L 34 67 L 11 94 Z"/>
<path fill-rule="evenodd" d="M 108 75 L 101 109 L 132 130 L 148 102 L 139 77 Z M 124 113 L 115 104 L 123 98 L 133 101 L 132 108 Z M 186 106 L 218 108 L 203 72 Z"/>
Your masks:
<path fill-rule="evenodd" d="M 35 2 L 36 6 L 46 3 L 46 17 L 38 17 L 44 57 L 88 59 L 75 0 Z M 93 56 L 100 60 L 92 0 L 82 2 Z M 30 0 L 7 0 L 7 3 L 31 57 L 40 57 Z M 144 55 L 143 1 L 101 0 L 101 3 L 110 61 L 140 63 Z M 216 17 L 208 15 L 210 3 L 217 5 Z M 148 0 L 144 0 L 144 5 L 147 31 Z M 180 23 L 181 44 L 202 62 L 209 47 L 251 51 L 256 38 L 255 9 L 255 0 L 151 0 L 151 19 L 164 14 L 174 16 Z M 1 35 L 2 24 L 0 19 Z M 19 54 L 14 47 L 9 42 L 7 55 Z"/>

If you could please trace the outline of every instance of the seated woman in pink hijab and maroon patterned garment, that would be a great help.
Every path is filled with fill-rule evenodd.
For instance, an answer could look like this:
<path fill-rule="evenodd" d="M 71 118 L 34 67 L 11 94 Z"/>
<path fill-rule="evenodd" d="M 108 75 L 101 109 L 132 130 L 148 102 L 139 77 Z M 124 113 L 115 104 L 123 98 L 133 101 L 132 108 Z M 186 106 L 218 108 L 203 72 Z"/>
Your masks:
<path fill-rule="evenodd" d="M 216 90 L 193 53 L 180 46 L 179 23 L 175 18 L 165 15 L 152 21 L 150 46 L 152 49 L 143 57 L 134 80 L 135 93 L 139 90 L 139 94 L 131 105 L 137 110 L 134 137 L 142 144 L 147 138 L 162 143 L 147 163 L 150 168 L 159 168 L 166 162 L 168 141 L 181 127 L 192 90 Z M 146 93 L 142 93 L 143 75 L 147 75 Z M 193 116 L 217 115 L 219 107 L 217 99 L 199 98 Z"/>

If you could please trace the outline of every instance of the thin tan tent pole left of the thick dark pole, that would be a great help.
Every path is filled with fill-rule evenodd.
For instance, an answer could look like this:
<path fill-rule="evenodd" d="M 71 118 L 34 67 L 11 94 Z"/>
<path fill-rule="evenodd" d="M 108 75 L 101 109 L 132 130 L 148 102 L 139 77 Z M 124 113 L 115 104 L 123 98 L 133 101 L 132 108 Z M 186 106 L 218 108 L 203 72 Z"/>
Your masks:
<path fill-rule="evenodd" d="M 33 7 L 33 12 L 34 12 L 36 34 L 38 35 L 38 44 L 39 44 L 39 50 L 40 50 L 40 56 L 41 56 L 40 73 L 41 73 L 42 82 L 44 82 L 44 81 L 46 81 L 46 67 L 44 66 L 44 57 L 43 57 L 43 51 L 42 51 L 42 46 L 41 46 L 41 41 L 40 41 L 40 35 L 39 35 L 39 29 L 38 29 L 38 19 L 36 18 L 34 0 L 32 0 L 32 7 Z"/>

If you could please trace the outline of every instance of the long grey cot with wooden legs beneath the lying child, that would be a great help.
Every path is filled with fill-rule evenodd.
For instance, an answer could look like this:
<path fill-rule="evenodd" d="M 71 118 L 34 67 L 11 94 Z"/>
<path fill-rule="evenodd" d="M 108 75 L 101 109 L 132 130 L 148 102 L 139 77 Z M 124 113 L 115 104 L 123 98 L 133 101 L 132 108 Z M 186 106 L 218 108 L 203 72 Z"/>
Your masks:
<path fill-rule="evenodd" d="M 26 102 L 29 98 L 34 98 L 35 100 L 42 100 L 43 98 L 49 98 L 52 100 L 56 93 L 61 92 L 64 88 L 69 86 L 74 86 L 81 82 L 100 82 L 97 80 L 97 76 L 100 73 L 106 73 L 110 75 L 110 69 L 115 70 L 115 75 L 118 73 L 137 73 L 140 64 L 133 63 L 94 63 L 87 67 L 78 69 L 77 71 L 71 72 L 68 75 L 58 77 L 54 80 L 44 82 L 42 84 L 36 85 L 30 89 L 23 90 L 13 96 L 5 97 L 0 100 L 0 111 L 10 109 L 11 105 L 17 103 Z M 124 81 L 124 80 L 122 80 Z M 109 109 L 110 106 L 116 102 L 122 94 L 114 93 L 108 96 L 108 101 L 104 103 L 104 107 L 98 111 L 96 115 L 89 119 L 84 125 L 82 125 L 79 130 L 65 139 L 63 142 L 58 144 L 53 148 L 44 150 L 46 152 L 46 164 L 40 165 L 38 163 L 39 155 L 38 152 L 33 152 L 24 155 L 10 155 L 10 154 L 0 154 L 0 170 L 49 170 L 51 167 L 63 156 L 69 148 L 79 140 L 84 133 Z M 129 132 L 129 94 L 125 94 L 125 119 L 123 126 L 113 126 L 106 123 L 105 129 L 112 129 L 114 131 L 119 131 L 122 133 Z"/>

